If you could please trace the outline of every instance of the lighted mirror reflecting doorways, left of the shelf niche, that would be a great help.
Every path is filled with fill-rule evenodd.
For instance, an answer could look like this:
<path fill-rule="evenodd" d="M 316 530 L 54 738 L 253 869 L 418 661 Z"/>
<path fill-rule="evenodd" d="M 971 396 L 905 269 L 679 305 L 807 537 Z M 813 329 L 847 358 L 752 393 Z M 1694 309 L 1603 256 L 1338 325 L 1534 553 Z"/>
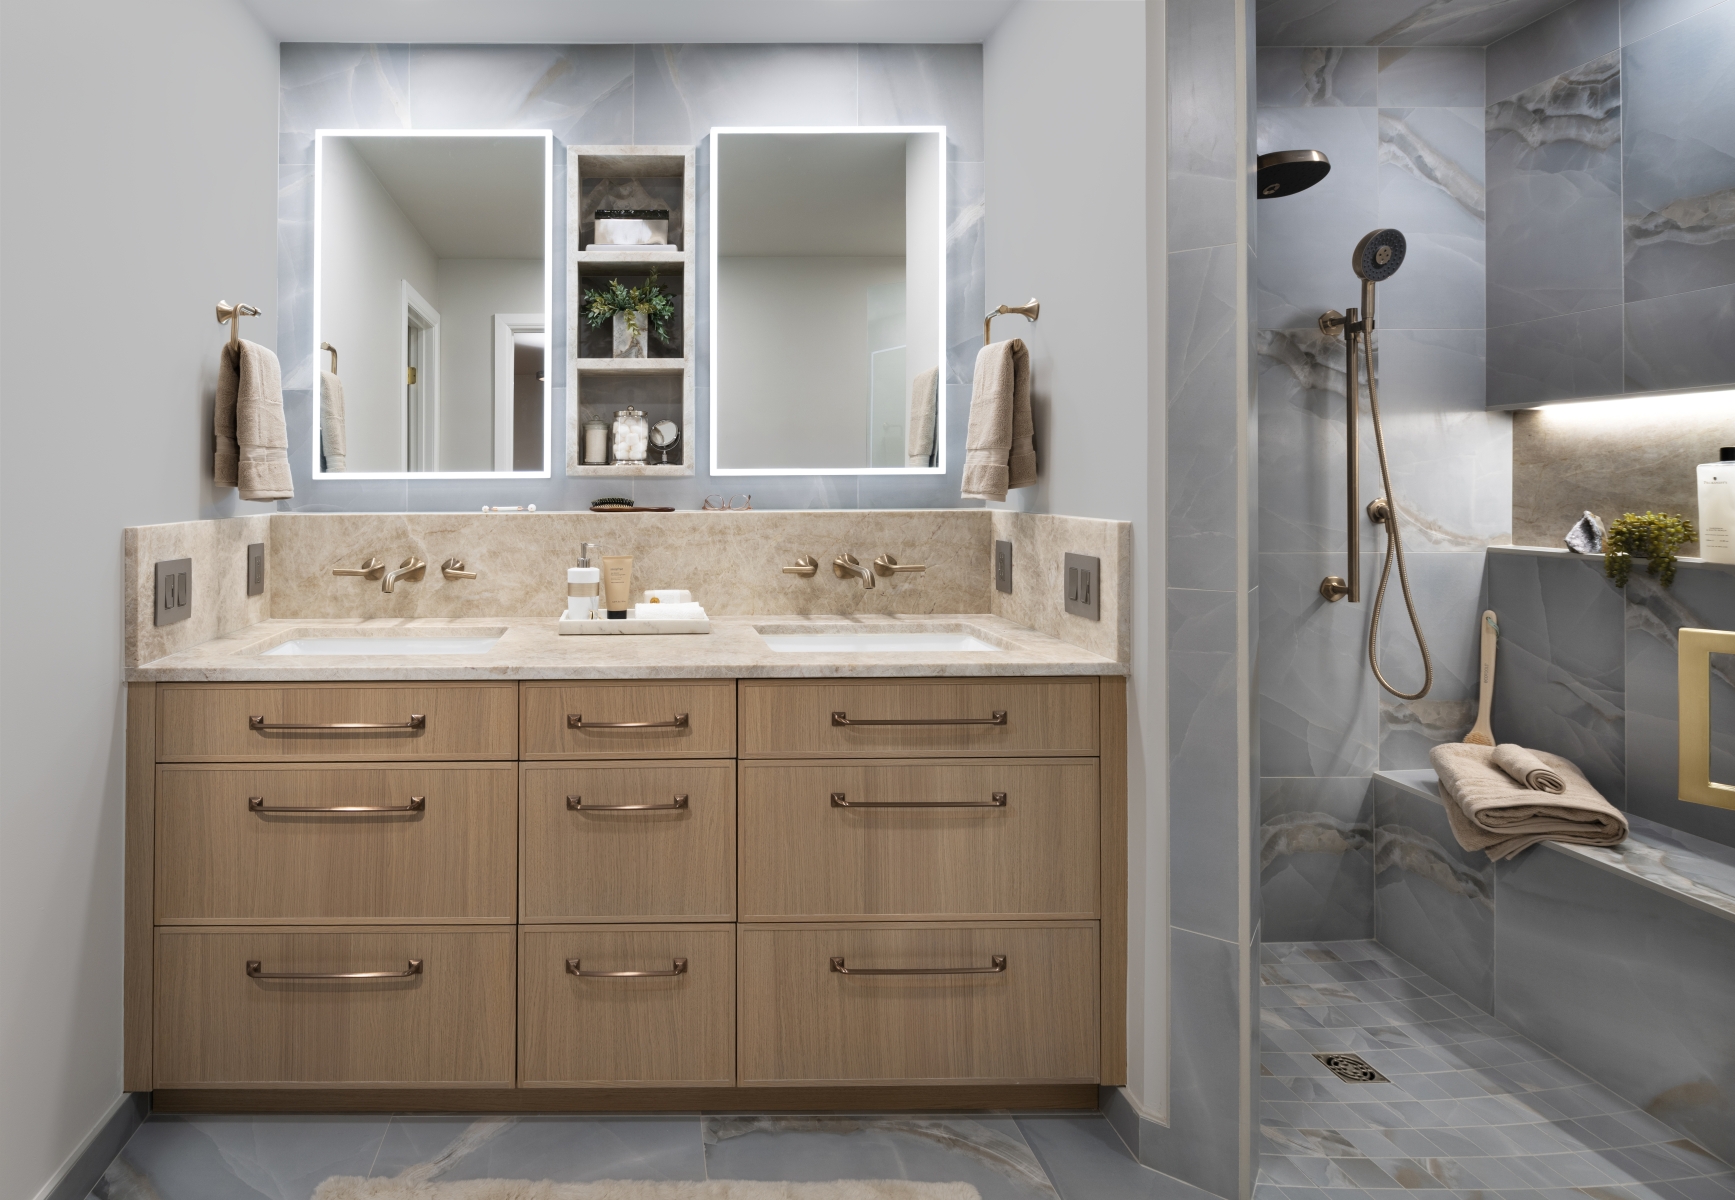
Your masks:
<path fill-rule="evenodd" d="M 314 479 L 547 477 L 548 130 L 314 134 Z"/>

